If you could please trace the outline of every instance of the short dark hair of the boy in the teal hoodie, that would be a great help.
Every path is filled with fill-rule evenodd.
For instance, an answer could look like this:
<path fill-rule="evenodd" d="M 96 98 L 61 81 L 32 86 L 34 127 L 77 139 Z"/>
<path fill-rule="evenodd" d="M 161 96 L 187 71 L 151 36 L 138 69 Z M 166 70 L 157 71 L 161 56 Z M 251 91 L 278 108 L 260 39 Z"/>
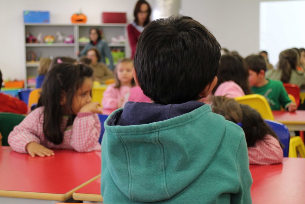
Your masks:
<path fill-rule="evenodd" d="M 158 30 L 158 32 L 155 32 Z M 217 75 L 220 45 L 191 17 L 158 19 L 140 35 L 134 67 L 143 93 L 159 104 L 202 98 Z"/>

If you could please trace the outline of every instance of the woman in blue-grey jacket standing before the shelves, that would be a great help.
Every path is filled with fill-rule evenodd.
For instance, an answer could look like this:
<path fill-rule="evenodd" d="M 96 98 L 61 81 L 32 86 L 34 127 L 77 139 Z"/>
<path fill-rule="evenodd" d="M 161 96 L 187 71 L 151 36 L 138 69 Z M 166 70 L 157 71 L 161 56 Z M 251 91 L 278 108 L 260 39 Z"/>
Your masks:
<path fill-rule="evenodd" d="M 103 62 L 106 64 L 105 57 L 108 57 L 110 66 L 109 69 L 114 70 L 113 67 L 113 58 L 110 52 L 110 48 L 108 44 L 102 40 L 101 34 L 97 28 L 91 28 L 89 31 L 89 38 L 90 38 L 90 43 L 88 43 L 83 50 L 81 50 L 81 53 L 79 56 L 86 55 L 88 50 L 95 47 L 99 53 L 101 54 L 101 58 L 99 62 Z"/>

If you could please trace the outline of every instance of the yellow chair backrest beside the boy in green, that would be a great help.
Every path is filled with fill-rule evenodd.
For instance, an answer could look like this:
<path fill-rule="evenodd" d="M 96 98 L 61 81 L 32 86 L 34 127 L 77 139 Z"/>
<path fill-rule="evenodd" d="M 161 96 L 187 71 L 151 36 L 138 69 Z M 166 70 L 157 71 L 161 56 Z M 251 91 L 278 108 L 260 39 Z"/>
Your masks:
<path fill-rule="evenodd" d="M 235 100 L 240 104 L 246 104 L 251 108 L 256 109 L 263 119 L 274 120 L 269 103 L 264 96 L 259 94 L 249 94 L 236 97 Z"/>

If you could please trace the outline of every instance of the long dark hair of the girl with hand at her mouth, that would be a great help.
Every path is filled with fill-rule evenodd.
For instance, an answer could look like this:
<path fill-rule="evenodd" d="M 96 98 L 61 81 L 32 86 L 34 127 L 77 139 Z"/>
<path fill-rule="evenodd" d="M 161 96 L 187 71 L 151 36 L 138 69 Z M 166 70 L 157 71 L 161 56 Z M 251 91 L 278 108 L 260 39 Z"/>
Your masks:
<path fill-rule="evenodd" d="M 43 133 L 48 141 L 54 144 L 63 142 L 63 132 L 60 130 L 63 111 L 70 110 L 68 125 L 72 125 L 75 118 L 72 115 L 74 94 L 81 87 L 85 77 L 92 77 L 92 74 L 92 68 L 86 65 L 68 63 L 57 64 L 47 72 L 37 107 L 45 107 Z M 63 96 L 66 98 L 64 106 L 60 105 Z"/>

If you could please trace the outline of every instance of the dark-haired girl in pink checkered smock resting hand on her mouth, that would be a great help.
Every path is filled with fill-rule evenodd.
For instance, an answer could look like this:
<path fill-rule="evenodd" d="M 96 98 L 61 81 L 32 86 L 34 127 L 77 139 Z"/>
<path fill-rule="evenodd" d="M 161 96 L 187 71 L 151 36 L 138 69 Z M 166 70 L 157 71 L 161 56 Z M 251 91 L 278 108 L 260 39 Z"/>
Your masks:
<path fill-rule="evenodd" d="M 85 65 L 55 65 L 46 75 L 38 108 L 9 134 L 12 149 L 32 157 L 54 155 L 49 148 L 101 150 L 95 114 L 100 111 L 90 96 L 92 73 Z"/>

